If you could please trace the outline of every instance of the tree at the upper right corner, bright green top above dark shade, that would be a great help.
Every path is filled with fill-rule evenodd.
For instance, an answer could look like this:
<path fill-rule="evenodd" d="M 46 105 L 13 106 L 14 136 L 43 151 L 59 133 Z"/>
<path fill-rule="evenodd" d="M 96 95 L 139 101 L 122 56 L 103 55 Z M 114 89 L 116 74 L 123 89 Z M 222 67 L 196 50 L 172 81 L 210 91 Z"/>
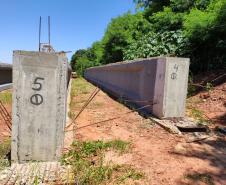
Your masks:
<path fill-rule="evenodd" d="M 212 0 L 206 9 L 194 7 L 184 20 L 194 72 L 226 65 L 226 0 Z"/>

